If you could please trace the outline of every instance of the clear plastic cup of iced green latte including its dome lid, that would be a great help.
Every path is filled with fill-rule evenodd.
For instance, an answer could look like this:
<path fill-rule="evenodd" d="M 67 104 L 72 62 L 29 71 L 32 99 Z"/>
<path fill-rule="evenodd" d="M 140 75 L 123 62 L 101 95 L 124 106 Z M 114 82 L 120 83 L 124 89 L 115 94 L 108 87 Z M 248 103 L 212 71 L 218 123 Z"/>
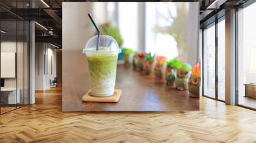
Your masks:
<path fill-rule="evenodd" d="M 99 48 L 97 36 L 86 43 L 83 53 L 88 60 L 90 87 L 93 96 L 111 96 L 115 91 L 117 57 L 120 49 L 114 38 L 100 35 Z"/>

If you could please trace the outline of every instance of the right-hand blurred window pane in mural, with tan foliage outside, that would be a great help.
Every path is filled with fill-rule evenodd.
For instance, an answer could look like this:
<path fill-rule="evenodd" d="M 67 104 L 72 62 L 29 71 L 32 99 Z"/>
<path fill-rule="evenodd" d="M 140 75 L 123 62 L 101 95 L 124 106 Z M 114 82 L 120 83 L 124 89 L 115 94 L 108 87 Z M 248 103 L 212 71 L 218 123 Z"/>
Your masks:
<path fill-rule="evenodd" d="M 166 56 L 168 59 L 186 57 L 188 8 L 189 3 L 146 3 L 146 52 Z"/>

